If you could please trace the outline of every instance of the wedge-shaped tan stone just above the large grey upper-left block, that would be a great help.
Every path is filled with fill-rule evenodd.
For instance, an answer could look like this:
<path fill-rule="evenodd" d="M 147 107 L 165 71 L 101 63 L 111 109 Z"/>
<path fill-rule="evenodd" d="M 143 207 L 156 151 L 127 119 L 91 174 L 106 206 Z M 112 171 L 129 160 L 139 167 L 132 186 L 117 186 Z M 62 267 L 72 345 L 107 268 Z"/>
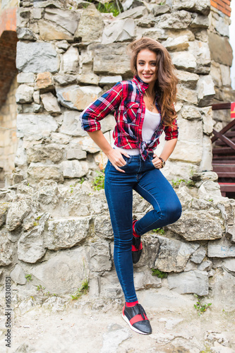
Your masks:
<path fill-rule="evenodd" d="M 41 40 L 73 41 L 73 35 L 71 35 L 71 32 L 68 32 L 68 30 L 65 30 L 60 25 L 56 25 L 56 23 L 52 23 L 47 20 L 39 20 L 38 26 L 39 26 Z"/>

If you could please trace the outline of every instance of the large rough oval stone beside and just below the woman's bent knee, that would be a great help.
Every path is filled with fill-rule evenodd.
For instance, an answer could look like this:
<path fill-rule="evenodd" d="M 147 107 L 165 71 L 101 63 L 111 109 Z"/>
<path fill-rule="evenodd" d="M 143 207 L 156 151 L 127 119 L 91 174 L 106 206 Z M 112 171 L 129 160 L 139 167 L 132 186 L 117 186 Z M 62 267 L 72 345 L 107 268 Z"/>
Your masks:
<path fill-rule="evenodd" d="M 224 234 L 222 220 L 210 211 L 184 211 L 174 225 L 167 226 L 187 241 L 220 239 Z"/>

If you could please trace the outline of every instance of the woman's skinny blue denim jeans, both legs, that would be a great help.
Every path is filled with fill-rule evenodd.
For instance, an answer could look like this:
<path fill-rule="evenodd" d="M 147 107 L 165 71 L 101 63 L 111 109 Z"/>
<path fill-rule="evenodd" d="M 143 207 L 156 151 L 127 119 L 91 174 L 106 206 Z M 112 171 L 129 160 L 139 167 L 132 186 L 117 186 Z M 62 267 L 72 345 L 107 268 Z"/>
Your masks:
<path fill-rule="evenodd" d="M 153 206 L 153 210 L 135 223 L 137 234 L 174 223 L 181 216 L 179 198 L 162 172 L 152 164 L 152 155 L 145 161 L 140 155 L 130 158 L 123 155 L 126 164 L 120 168 L 125 173 L 117 171 L 109 161 L 105 168 L 104 191 L 114 231 L 114 265 L 128 302 L 137 300 L 131 254 L 133 190 Z"/>

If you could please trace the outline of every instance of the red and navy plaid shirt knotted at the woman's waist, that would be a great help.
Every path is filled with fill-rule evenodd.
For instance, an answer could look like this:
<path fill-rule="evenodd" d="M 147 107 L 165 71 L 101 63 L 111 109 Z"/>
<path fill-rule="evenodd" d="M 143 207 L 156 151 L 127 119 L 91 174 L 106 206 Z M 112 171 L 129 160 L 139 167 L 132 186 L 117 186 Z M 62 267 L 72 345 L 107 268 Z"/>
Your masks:
<path fill-rule="evenodd" d="M 159 144 L 162 131 L 165 133 L 165 140 L 178 137 L 178 126 L 176 119 L 174 119 L 171 127 L 164 126 L 161 121 L 150 142 L 143 141 L 142 127 L 145 117 L 143 95 L 147 87 L 148 84 L 144 83 L 138 76 L 134 76 L 132 80 L 123 80 L 116 83 L 113 88 L 105 92 L 95 102 L 92 102 L 80 114 L 79 118 L 83 130 L 89 132 L 100 130 L 100 120 L 114 110 L 116 119 L 113 133 L 114 145 L 126 149 L 139 148 L 140 155 L 145 160 L 148 153 L 155 150 Z M 155 102 L 157 110 L 161 114 L 157 99 Z"/>

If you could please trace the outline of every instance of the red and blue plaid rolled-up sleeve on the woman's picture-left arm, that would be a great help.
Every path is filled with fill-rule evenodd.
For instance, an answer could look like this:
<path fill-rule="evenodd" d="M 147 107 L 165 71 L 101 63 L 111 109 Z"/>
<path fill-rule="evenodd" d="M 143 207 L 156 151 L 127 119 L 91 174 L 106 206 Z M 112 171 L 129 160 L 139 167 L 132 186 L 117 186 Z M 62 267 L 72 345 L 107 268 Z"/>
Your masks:
<path fill-rule="evenodd" d="M 89 132 L 100 130 L 100 120 L 104 119 L 120 104 L 121 96 L 122 84 L 118 82 L 95 102 L 88 105 L 79 116 L 83 130 Z"/>

